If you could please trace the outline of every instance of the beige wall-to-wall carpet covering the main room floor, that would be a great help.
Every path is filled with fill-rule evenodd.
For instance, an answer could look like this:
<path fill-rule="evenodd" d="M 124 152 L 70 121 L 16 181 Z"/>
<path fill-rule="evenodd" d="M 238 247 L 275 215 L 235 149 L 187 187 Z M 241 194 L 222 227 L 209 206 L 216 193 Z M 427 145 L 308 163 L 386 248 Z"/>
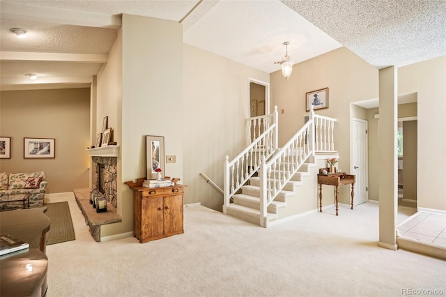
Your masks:
<path fill-rule="evenodd" d="M 264 229 L 203 206 L 185 233 L 96 243 L 74 197 L 76 240 L 47 247 L 53 296 L 405 296 L 446 292 L 446 262 L 378 248 L 378 204 L 340 206 Z M 406 291 L 405 291 L 406 290 Z"/>

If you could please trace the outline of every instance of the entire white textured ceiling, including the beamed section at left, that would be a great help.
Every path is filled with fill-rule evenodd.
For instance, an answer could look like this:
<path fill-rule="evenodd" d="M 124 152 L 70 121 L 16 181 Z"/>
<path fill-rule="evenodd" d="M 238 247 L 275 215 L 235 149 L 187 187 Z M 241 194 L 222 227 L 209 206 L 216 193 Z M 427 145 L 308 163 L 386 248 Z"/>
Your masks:
<path fill-rule="evenodd" d="M 122 13 L 181 21 L 185 43 L 267 73 L 284 41 L 294 63 L 341 46 L 376 68 L 446 54 L 443 0 L 0 0 L 1 89 L 88 86 Z"/>

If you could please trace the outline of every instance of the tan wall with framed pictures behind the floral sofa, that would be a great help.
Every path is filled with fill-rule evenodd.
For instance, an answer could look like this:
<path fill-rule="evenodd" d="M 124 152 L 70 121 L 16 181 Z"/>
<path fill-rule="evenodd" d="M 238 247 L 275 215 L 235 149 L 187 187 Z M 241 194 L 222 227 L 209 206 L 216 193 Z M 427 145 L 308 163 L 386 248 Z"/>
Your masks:
<path fill-rule="evenodd" d="M 11 137 L 1 172 L 47 174 L 47 194 L 89 186 L 90 89 L 1 91 L 0 135 Z M 24 159 L 24 137 L 54 138 L 54 159 Z"/>

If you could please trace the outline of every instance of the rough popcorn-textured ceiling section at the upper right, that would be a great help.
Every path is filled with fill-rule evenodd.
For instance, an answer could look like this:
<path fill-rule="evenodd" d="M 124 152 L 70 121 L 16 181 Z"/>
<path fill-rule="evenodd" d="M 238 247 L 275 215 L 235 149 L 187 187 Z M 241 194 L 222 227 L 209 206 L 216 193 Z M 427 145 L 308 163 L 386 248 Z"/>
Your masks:
<path fill-rule="evenodd" d="M 446 54 L 444 0 L 281 0 L 376 68 Z"/>

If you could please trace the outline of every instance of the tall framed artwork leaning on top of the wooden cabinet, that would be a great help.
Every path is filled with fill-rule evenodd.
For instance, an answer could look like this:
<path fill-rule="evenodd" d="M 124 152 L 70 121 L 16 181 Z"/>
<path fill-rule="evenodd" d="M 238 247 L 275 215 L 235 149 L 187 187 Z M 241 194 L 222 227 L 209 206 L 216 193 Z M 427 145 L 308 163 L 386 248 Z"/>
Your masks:
<path fill-rule="evenodd" d="M 156 169 L 164 178 L 164 137 L 146 135 L 147 179 L 157 179 Z"/>

